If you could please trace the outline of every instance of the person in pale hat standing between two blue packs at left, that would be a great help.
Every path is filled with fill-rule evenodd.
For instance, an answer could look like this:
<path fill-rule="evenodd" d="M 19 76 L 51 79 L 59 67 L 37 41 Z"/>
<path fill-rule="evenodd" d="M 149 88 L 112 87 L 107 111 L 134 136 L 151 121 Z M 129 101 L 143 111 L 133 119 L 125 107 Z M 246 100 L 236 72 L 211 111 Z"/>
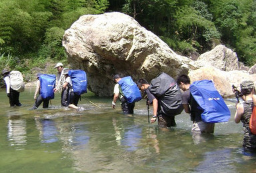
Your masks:
<path fill-rule="evenodd" d="M 65 82 L 63 71 L 66 68 L 63 68 L 62 63 L 57 63 L 54 68 L 57 69 L 56 88 L 54 88 L 54 92 L 61 92 L 61 106 L 65 106 L 67 104 L 67 89 L 62 86 Z"/>

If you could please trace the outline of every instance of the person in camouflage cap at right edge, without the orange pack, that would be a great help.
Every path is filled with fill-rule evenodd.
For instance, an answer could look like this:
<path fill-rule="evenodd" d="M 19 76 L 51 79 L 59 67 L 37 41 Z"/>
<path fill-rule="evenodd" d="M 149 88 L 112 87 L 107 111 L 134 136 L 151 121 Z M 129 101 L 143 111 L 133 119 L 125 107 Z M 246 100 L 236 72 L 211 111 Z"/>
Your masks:
<path fill-rule="evenodd" d="M 256 152 L 256 135 L 252 134 L 249 129 L 249 122 L 251 118 L 251 113 L 253 112 L 253 100 L 255 100 L 255 86 L 253 81 L 243 81 L 240 84 L 241 95 L 243 95 L 243 100 L 245 102 L 239 102 L 236 105 L 237 111 L 235 112 L 235 122 L 243 123 L 243 148 L 245 152 Z"/>

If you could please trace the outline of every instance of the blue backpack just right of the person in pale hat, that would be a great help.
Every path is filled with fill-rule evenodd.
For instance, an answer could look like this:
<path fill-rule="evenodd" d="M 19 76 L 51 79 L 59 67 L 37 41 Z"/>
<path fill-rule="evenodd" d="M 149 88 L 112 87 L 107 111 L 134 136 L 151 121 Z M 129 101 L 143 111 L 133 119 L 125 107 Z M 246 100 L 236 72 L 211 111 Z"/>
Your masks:
<path fill-rule="evenodd" d="M 74 93 L 77 95 L 87 93 L 87 77 L 85 71 L 70 70 L 68 74 L 71 77 Z"/>

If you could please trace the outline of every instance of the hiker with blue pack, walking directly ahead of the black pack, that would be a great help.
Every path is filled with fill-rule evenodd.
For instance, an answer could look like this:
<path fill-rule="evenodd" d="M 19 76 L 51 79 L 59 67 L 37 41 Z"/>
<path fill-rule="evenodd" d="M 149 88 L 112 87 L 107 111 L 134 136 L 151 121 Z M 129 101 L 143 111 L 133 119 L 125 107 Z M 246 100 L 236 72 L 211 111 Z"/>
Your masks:
<path fill-rule="evenodd" d="M 141 100 L 141 92 L 131 77 L 115 75 L 113 77 L 115 84 L 112 108 L 115 108 L 117 98 L 120 99 L 121 108 L 124 114 L 133 114 L 135 102 Z"/>

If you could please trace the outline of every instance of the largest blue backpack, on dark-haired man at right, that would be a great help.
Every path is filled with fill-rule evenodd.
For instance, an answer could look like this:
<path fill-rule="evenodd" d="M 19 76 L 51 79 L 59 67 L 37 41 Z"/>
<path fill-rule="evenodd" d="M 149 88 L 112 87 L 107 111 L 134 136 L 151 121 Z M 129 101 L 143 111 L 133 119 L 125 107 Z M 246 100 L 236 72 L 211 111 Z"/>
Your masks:
<path fill-rule="evenodd" d="M 189 87 L 191 95 L 199 104 L 203 122 L 227 122 L 230 118 L 230 110 L 216 90 L 213 81 L 195 81 Z"/>

